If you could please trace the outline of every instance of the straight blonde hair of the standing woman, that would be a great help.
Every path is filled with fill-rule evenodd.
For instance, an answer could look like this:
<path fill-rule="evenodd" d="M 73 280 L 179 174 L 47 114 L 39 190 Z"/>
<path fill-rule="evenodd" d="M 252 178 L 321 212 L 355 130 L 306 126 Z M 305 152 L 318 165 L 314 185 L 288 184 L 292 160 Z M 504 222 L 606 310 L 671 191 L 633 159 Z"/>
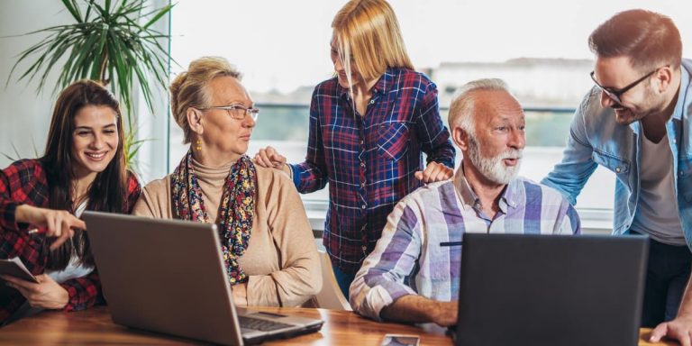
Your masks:
<path fill-rule="evenodd" d="M 366 80 L 381 76 L 387 68 L 414 69 L 394 10 L 386 1 L 349 1 L 334 16 L 332 28 L 350 85 L 351 59 Z"/>

